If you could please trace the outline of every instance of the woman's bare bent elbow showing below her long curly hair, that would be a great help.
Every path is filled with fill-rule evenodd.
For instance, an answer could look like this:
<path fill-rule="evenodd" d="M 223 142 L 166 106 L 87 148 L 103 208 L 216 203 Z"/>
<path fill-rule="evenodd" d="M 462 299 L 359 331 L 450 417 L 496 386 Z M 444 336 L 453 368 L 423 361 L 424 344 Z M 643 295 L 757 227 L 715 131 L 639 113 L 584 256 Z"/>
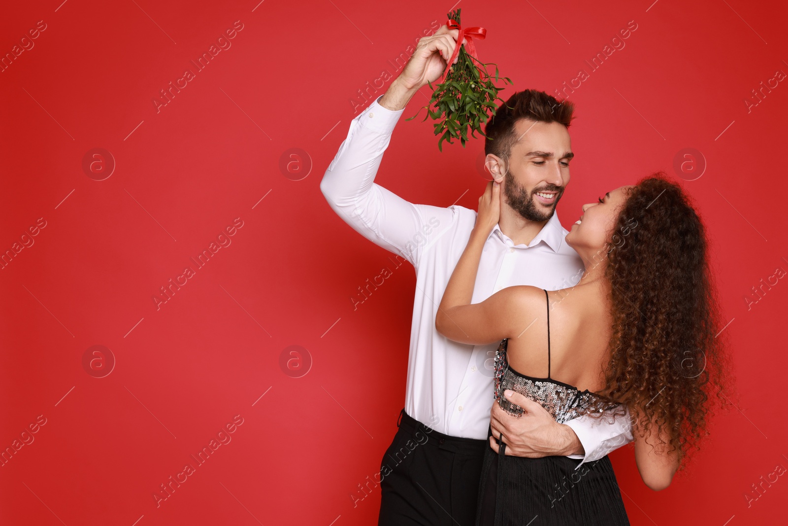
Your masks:
<path fill-rule="evenodd" d="M 640 472 L 646 486 L 654 491 L 663 490 L 671 485 L 673 475 L 681 461 L 681 453 L 678 450 L 668 451 L 670 435 L 667 430 L 660 433 L 656 423 L 652 423 L 651 429 L 645 433 L 640 424 L 639 413 L 631 412 L 634 416 L 632 433 L 635 438 L 637 471 Z"/>

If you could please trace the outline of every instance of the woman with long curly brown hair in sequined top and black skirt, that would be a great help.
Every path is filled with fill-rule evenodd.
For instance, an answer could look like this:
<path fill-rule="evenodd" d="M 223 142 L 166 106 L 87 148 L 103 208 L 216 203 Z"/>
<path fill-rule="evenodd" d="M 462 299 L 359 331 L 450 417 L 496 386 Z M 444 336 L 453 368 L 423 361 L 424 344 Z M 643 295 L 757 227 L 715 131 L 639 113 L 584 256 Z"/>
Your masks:
<path fill-rule="evenodd" d="M 722 385 L 700 218 L 682 189 L 656 173 L 582 207 L 566 236 L 585 265 L 578 285 L 513 286 L 470 304 L 499 200 L 491 181 L 437 330 L 469 344 L 500 341 L 493 396 L 510 414 L 522 408 L 505 390 L 540 402 L 559 423 L 628 409 L 641 478 L 653 490 L 667 487 L 703 435 L 712 386 Z M 608 457 L 575 471 L 580 461 L 569 457 L 505 456 L 506 437 L 492 428 L 489 440 L 477 524 L 629 524 Z"/>

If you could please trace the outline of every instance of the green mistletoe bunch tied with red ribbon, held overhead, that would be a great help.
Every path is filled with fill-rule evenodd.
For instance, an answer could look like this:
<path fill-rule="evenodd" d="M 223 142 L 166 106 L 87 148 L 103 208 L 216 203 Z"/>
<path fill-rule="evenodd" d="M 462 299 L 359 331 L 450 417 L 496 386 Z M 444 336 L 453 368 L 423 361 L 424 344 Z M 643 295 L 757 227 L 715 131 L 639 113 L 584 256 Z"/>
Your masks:
<path fill-rule="evenodd" d="M 459 13 L 462 9 L 456 9 L 452 13 L 448 13 L 449 28 L 452 28 L 452 21 L 456 22 L 454 28 L 459 28 Z M 481 29 L 481 28 L 474 28 Z M 484 31 L 483 29 L 481 31 Z M 470 35 L 464 36 L 463 39 L 469 39 Z M 481 38 L 484 38 L 482 35 Z M 487 137 L 485 132 L 482 131 L 483 125 L 488 118 L 496 114 L 496 100 L 502 103 L 504 99 L 498 97 L 498 92 L 503 91 L 504 88 L 498 88 L 492 82 L 493 76 L 487 71 L 488 65 L 495 65 L 495 82 L 499 81 L 498 66 L 493 63 L 484 64 L 466 51 L 466 46 L 463 46 L 459 39 L 457 41 L 459 47 L 459 54 L 457 63 L 452 65 L 447 63 L 446 67 L 448 72 L 444 71 L 444 80 L 433 88 L 432 83 L 429 88 L 433 90 L 432 99 L 429 103 L 423 106 L 427 110 L 427 117 L 433 118 L 437 121 L 434 124 L 435 135 L 440 135 L 438 140 L 438 150 L 443 151 L 443 141 L 452 143 L 452 139 L 459 139 L 460 144 L 465 147 L 468 140 L 467 132 L 470 128 L 470 135 L 474 138 L 474 132 L 479 132 L 481 136 Z M 473 49 L 473 48 L 471 48 Z M 500 79 L 504 80 L 504 85 L 508 81 L 512 84 L 511 79 L 507 76 L 502 76 Z M 430 107 L 434 106 L 434 110 Z M 418 111 L 422 109 L 419 108 Z M 414 119 L 418 116 L 418 112 L 407 121 Z M 423 122 L 423 121 L 422 121 Z"/>

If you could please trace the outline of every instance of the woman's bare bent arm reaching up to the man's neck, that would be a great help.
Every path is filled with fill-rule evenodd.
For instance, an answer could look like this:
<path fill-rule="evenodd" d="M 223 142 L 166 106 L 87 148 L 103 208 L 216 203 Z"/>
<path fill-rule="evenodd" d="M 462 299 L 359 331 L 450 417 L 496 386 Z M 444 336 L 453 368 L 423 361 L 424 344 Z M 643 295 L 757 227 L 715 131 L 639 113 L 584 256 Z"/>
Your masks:
<path fill-rule="evenodd" d="M 523 319 L 533 305 L 534 295 L 530 289 L 541 293 L 534 287 L 519 285 L 502 289 L 481 303 L 470 303 L 481 251 L 492 227 L 498 222 L 499 207 L 500 185 L 490 181 L 484 195 L 479 198 L 476 225 L 449 278 L 435 316 L 435 328 L 450 340 L 476 345 L 517 338 L 527 326 Z M 544 295 L 537 301 L 544 309 Z"/>

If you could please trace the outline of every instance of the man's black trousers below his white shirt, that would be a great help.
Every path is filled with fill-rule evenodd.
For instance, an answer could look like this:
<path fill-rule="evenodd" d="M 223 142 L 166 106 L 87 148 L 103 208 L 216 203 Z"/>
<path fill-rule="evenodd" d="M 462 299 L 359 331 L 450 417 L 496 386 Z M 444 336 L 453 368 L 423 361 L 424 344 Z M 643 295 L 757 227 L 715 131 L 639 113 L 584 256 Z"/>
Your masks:
<path fill-rule="evenodd" d="M 474 526 L 486 440 L 444 435 L 409 416 L 381 460 L 378 526 Z"/>

